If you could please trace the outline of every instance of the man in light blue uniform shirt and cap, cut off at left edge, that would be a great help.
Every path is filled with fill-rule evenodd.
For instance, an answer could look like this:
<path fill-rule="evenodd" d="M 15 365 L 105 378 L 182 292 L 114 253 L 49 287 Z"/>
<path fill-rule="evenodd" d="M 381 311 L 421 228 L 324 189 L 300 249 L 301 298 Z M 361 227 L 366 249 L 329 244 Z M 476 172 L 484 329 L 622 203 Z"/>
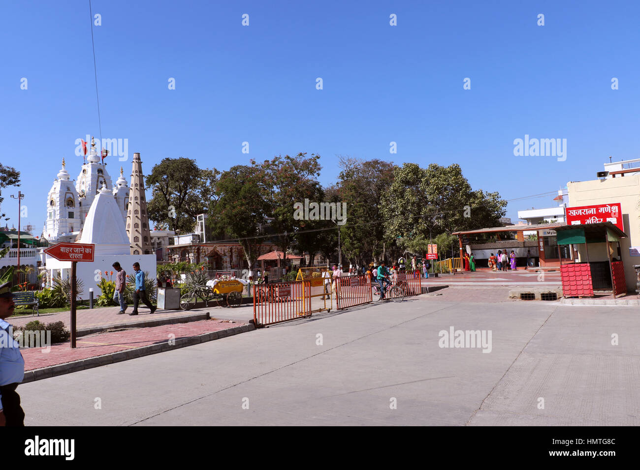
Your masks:
<path fill-rule="evenodd" d="M 20 395 L 15 393 L 24 379 L 24 359 L 13 329 L 4 320 L 13 315 L 15 303 L 11 283 L 0 285 L 0 426 L 24 426 Z"/>

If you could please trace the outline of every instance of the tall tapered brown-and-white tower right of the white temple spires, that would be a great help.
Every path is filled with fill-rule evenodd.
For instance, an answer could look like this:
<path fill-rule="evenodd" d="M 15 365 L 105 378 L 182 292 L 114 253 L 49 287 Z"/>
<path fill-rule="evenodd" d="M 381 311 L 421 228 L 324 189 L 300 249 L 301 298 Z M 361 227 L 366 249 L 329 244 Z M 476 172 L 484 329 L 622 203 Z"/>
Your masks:
<path fill-rule="evenodd" d="M 145 176 L 142 173 L 140 153 L 133 154 L 131 185 L 127 209 L 127 235 L 131 243 L 131 255 L 151 255 L 151 235 L 145 198 Z"/>

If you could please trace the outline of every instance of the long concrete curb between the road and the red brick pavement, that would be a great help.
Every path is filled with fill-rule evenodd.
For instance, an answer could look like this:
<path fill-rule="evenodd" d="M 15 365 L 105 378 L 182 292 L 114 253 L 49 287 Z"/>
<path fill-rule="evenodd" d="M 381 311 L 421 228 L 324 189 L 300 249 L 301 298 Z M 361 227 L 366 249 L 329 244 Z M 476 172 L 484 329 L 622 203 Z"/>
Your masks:
<path fill-rule="evenodd" d="M 175 340 L 175 345 L 170 345 L 169 341 L 164 341 L 163 343 L 142 346 L 136 349 L 112 352 L 111 354 L 104 354 L 103 356 L 87 357 L 86 359 L 81 359 L 79 361 L 29 370 L 24 373 L 22 383 L 26 384 L 27 382 L 35 382 L 36 380 L 56 377 L 56 375 L 65 375 L 67 373 L 78 372 L 80 370 L 106 366 L 107 364 L 115 364 L 121 361 L 128 361 L 129 359 L 136 359 L 136 357 L 149 356 L 150 354 L 157 354 L 158 352 L 172 351 L 174 349 L 193 346 L 200 343 L 207 343 L 208 341 L 219 340 L 220 338 L 225 338 L 227 336 L 234 336 L 234 334 L 246 333 L 248 331 L 253 331 L 254 329 L 255 327 L 253 326 L 253 323 L 238 325 L 220 331 L 212 331 L 210 333 L 198 334 L 197 336 L 190 336 L 189 338 L 180 338 L 179 340 Z"/>

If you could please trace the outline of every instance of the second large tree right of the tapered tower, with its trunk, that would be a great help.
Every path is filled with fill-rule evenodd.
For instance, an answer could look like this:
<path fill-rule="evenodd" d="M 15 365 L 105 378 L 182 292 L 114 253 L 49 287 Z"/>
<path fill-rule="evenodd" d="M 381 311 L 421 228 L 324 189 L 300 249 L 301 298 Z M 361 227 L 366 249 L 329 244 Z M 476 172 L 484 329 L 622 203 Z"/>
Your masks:
<path fill-rule="evenodd" d="M 269 214 L 267 175 L 257 166 L 236 165 L 220 175 L 207 224 L 220 238 L 239 239 L 250 268 L 258 258 L 259 226 Z"/>

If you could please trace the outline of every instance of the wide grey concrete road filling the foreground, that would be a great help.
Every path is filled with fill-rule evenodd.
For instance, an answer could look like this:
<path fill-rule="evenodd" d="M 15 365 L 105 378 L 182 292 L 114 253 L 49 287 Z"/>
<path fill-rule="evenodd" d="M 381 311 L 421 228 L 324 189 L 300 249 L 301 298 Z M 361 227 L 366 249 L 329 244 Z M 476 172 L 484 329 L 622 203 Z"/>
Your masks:
<path fill-rule="evenodd" d="M 27 425 L 638 425 L 637 318 L 625 307 L 421 296 L 18 391 Z M 492 331 L 491 352 L 438 347 L 450 327 Z"/>

